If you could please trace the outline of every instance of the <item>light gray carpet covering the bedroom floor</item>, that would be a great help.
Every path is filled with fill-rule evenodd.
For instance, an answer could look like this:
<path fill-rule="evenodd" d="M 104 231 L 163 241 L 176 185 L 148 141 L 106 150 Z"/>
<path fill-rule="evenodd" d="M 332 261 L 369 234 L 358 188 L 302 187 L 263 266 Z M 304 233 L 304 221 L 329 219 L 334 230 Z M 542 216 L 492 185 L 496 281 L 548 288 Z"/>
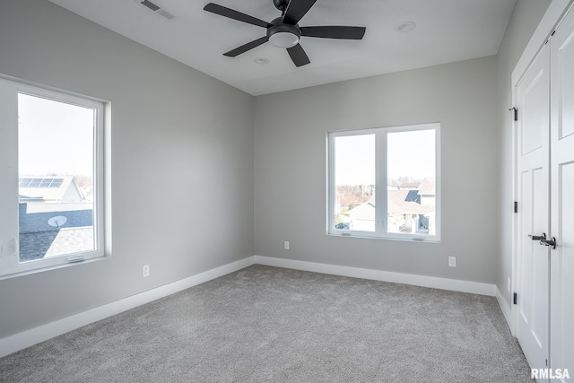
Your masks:
<path fill-rule="evenodd" d="M 0 359 L 3 382 L 530 382 L 494 298 L 253 265 Z"/>

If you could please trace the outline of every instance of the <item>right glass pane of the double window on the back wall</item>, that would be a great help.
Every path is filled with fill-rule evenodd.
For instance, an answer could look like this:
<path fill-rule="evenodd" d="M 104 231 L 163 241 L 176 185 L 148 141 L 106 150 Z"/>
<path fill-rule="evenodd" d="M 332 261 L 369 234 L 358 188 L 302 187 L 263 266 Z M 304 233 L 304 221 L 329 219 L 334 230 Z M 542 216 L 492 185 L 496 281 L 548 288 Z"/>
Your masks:
<path fill-rule="evenodd" d="M 435 235 L 435 130 L 387 133 L 387 231 Z"/>

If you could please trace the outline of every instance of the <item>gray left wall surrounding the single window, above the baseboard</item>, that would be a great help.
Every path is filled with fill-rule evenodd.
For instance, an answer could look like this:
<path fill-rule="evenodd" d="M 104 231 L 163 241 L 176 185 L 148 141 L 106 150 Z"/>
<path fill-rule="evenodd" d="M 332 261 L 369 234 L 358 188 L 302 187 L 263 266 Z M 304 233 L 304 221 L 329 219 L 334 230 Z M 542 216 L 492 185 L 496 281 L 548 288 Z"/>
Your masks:
<path fill-rule="evenodd" d="M 48 1 L 1 3 L 1 74 L 111 101 L 113 254 L 0 281 L 0 337 L 254 254 L 253 97 Z"/>

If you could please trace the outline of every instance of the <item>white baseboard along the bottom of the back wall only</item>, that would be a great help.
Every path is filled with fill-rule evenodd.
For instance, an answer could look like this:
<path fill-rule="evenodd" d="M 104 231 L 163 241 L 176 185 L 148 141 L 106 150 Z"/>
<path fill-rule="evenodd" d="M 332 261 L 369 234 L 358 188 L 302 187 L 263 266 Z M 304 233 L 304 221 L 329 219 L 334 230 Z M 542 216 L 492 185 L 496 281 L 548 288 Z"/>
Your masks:
<path fill-rule="evenodd" d="M 457 279 L 439 278 L 436 276 L 403 274 L 340 265 L 317 264 L 314 262 L 274 257 L 255 256 L 255 263 L 259 265 L 312 271 L 321 274 L 334 274 L 351 276 L 353 278 L 371 279 L 374 281 L 413 284 L 414 286 L 431 287 L 433 289 L 450 290 L 453 292 L 470 292 L 491 297 L 496 295 L 496 285 L 491 283 L 460 281 Z"/>

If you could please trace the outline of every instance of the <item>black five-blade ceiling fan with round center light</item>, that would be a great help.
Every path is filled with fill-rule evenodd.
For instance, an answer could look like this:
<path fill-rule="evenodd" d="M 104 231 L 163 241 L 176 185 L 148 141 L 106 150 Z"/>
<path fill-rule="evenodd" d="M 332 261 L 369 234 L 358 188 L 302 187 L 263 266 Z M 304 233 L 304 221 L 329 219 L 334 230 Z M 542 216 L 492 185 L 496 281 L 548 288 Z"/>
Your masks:
<path fill-rule="evenodd" d="M 267 30 L 264 37 L 231 49 L 229 52 L 224 53 L 223 56 L 236 57 L 269 41 L 274 47 L 287 48 L 293 64 L 302 66 L 308 65 L 310 61 L 305 50 L 300 46 L 299 39 L 301 36 L 323 39 L 362 39 L 365 35 L 365 27 L 338 25 L 300 27 L 298 22 L 309 12 L 309 9 L 315 2 L 317 0 L 273 0 L 275 8 L 281 11 L 282 15 L 271 22 L 264 22 L 248 14 L 213 3 L 205 5 L 204 10 L 239 22 L 247 22 L 257 27 L 263 27 Z"/>

